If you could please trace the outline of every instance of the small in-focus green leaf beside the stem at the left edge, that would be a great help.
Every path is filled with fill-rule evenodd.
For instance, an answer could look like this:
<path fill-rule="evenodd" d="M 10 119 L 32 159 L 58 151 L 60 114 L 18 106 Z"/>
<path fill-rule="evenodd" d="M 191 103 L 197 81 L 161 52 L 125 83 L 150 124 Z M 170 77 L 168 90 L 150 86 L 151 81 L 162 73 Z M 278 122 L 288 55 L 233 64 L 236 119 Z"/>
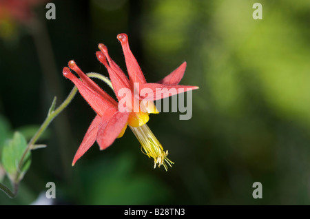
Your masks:
<path fill-rule="evenodd" d="M 12 183 L 18 183 L 30 167 L 30 151 L 23 157 L 26 148 L 25 137 L 19 132 L 15 132 L 13 139 L 7 140 L 3 147 L 2 164 Z"/>

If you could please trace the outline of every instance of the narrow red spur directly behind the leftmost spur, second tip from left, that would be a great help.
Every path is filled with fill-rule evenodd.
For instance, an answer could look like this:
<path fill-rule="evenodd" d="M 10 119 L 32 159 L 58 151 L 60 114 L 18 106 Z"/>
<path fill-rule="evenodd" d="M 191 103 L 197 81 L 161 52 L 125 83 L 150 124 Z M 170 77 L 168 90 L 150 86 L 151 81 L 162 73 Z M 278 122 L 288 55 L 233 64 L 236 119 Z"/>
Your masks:
<path fill-rule="evenodd" d="M 103 98 L 107 99 L 113 104 L 116 104 L 116 101 L 114 101 L 114 98 L 112 98 L 109 94 L 104 92 L 101 87 L 99 87 L 92 79 L 90 79 L 86 74 L 84 74 L 81 69 L 76 65 L 76 63 L 72 60 L 68 63 L 69 67 L 74 70 L 77 74 L 79 74 L 80 78 L 82 79 L 83 83 L 85 83 L 88 87 L 92 88 L 95 92 L 103 96 Z"/>

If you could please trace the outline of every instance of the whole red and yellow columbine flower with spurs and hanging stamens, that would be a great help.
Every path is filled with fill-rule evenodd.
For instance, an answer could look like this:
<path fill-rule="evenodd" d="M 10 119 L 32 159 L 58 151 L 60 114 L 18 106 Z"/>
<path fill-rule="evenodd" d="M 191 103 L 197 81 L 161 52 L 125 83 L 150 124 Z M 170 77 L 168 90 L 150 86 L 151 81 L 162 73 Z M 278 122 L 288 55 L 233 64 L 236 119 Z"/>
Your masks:
<path fill-rule="evenodd" d="M 141 143 L 143 153 L 154 158 L 154 168 L 156 165 L 158 167 L 163 165 L 167 170 L 167 164 L 171 166 L 173 162 L 167 158 L 168 152 L 163 150 L 161 143 L 146 125 L 149 114 L 158 113 L 153 101 L 198 87 L 177 85 L 183 77 L 186 63 L 158 83 L 147 83 L 138 62 L 130 51 L 127 35 L 118 34 L 117 39 L 123 48 L 129 80 L 110 58 L 105 45 L 99 44 L 101 51 L 96 52 L 96 56 L 107 68 L 118 103 L 86 76 L 74 61 L 69 62 L 69 67 L 80 76 L 81 80 L 74 76 L 68 67 L 63 68 L 63 75 L 76 85 L 97 114 L 74 156 L 72 165 L 85 154 L 95 140 L 101 150 L 105 149 L 112 145 L 116 138 L 123 136 L 129 126 Z"/>

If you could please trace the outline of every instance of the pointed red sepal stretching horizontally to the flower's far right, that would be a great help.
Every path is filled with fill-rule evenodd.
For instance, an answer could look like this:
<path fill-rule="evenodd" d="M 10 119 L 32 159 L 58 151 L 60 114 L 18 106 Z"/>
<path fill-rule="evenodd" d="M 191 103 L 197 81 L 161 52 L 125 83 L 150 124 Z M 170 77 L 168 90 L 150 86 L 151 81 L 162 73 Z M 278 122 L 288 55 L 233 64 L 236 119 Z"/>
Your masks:
<path fill-rule="evenodd" d="M 199 87 L 197 86 L 161 85 L 159 83 L 145 83 L 141 86 L 141 90 L 145 89 L 145 92 L 140 90 L 140 94 L 144 95 L 140 96 L 140 99 L 145 101 L 156 101 L 162 98 L 166 98 L 168 96 L 187 92 L 189 90 L 196 90 L 198 88 Z M 144 93 L 146 93 L 146 95 Z"/>

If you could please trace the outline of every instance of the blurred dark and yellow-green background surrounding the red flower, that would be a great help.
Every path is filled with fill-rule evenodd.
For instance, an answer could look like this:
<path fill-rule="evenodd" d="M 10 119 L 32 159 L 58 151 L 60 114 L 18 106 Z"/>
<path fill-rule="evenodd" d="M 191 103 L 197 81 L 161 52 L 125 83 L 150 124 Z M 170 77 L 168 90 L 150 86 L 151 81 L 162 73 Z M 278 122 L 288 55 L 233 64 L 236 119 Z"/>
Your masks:
<path fill-rule="evenodd" d="M 1 205 L 29 205 L 48 182 L 61 204 L 310 204 L 310 1 L 52 2 L 56 20 L 45 19 L 43 3 L 34 11 L 37 27 L 17 25 L 0 41 L 2 136 L 40 125 L 53 96 L 65 99 L 72 83 L 62 69 L 71 59 L 107 75 L 98 43 L 125 70 L 122 32 L 147 81 L 187 61 L 180 84 L 200 89 L 189 121 L 179 113 L 150 117 L 175 162 L 167 172 L 153 169 L 130 129 L 105 151 L 95 143 L 71 167 L 95 116 L 76 95 L 40 140 L 48 147 L 32 152 L 17 198 L 0 192 Z M 255 2 L 262 20 L 252 17 Z M 254 182 L 262 183 L 262 199 L 252 197 Z"/>

